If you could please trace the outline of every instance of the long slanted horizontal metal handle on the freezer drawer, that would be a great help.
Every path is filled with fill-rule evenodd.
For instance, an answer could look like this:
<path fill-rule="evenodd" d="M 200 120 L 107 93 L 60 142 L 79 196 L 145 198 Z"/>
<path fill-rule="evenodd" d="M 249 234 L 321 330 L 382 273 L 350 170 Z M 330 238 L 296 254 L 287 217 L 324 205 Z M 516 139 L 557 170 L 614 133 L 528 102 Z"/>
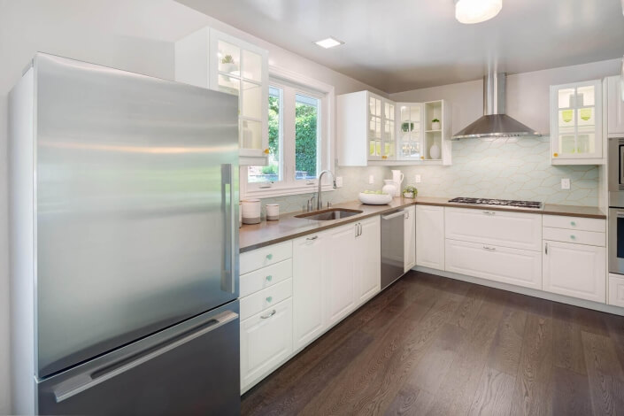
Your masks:
<path fill-rule="evenodd" d="M 150 352 L 147 352 L 146 354 L 143 354 L 143 355 L 139 353 L 138 358 L 133 359 L 127 364 L 123 364 L 119 366 L 120 363 L 123 363 L 128 358 L 135 357 L 137 355 L 136 353 L 129 355 L 127 358 L 121 358 L 117 360 L 115 363 L 112 363 L 109 366 L 105 366 L 102 369 L 98 369 L 96 371 L 89 370 L 89 372 L 86 372 L 83 374 L 77 374 L 71 379 L 59 384 L 58 388 L 54 389 L 54 397 L 57 403 L 60 403 L 70 397 L 73 397 L 81 393 L 82 391 L 85 391 L 87 389 L 90 389 L 96 386 L 97 384 L 100 384 L 101 382 L 110 380 L 119 374 L 123 374 L 127 372 L 128 370 L 135 368 L 136 366 L 141 366 L 143 363 L 149 361 L 150 359 L 157 358 L 158 356 L 166 353 L 167 351 L 172 351 L 173 349 L 181 346 L 184 343 L 189 343 L 189 341 L 192 341 L 199 336 L 207 334 L 217 329 L 218 327 L 222 327 L 226 325 L 227 323 L 233 320 L 236 320 L 237 318 L 238 318 L 238 313 L 235 313 L 232 311 L 222 312 L 219 315 L 214 316 L 211 320 L 205 321 L 204 324 L 199 326 L 201 329 L 196 330 L 192 334 L 189 334 L 180 339 L 177 339 L 173 341 L 172 343 L 167 343 L 166 345 L 158 348 L 155 351 L 152 351 L 151 348 L 148 348 L 146 351 L 150 351 Z M 175 337 L 173 338 L 175 339 Z"/>

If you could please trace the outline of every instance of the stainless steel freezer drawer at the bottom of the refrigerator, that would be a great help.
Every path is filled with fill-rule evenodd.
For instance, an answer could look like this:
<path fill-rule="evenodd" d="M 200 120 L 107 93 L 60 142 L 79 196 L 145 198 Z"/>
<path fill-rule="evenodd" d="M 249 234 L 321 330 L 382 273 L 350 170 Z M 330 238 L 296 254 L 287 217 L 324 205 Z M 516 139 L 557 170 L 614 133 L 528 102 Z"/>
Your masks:
<path fill-rule="evenodd" d="M 239 414 L 238 302 L 41 381 L 40 414 Z"/>

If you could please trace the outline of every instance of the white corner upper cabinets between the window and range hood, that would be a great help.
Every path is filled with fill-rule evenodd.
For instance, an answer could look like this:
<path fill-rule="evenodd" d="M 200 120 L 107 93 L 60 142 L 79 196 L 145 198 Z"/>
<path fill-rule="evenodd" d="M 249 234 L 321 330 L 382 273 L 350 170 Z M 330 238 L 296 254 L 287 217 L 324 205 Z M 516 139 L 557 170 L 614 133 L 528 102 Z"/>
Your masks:
<path fill-rule="evenodd" d="M 451 165 L 449 105 L 394 103 L 370 91 L 337 98 L 338 165 Z"/>

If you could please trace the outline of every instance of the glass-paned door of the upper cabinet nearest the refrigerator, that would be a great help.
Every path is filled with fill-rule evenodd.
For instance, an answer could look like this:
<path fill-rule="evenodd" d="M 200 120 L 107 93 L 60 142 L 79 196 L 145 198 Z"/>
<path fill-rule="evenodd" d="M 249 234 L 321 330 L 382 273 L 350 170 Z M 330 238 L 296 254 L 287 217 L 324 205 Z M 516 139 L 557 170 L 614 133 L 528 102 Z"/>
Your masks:
<path fill-rule="evenodd" d="M 217 31 L 211 31 L 211 48 L 211 67 L 216 68 L 211 88 L 238 96 L 240 155 L 264 158 L 268 148 L 266 51 Z"/>

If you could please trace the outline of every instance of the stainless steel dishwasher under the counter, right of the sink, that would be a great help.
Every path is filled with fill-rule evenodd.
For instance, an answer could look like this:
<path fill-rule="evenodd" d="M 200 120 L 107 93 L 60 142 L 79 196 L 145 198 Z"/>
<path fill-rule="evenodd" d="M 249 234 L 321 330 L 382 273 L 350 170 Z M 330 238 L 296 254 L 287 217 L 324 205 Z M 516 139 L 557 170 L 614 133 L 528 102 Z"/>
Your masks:
<path fill-rule="evenodd" d="M 404 210 L 381 215 L 381 289 L 404 274 Z"/>

